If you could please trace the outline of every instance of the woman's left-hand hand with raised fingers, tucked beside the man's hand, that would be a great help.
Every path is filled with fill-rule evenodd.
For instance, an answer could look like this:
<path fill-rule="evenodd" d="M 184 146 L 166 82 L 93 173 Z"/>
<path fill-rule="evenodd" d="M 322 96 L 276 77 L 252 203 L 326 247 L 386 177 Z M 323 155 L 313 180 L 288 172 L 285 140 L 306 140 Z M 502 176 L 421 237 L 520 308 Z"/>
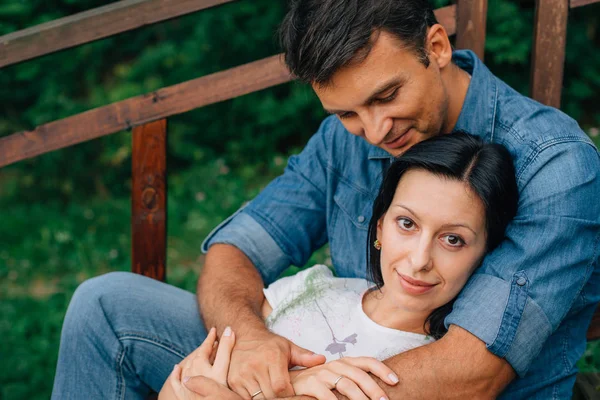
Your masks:
<path fill-rule="evenodd" d="M 175 365 L 159 393 L 160 400 L 241 399 L 227 387 L 227 373 L 235 335 L 227 328 L 223 332 L 221 342 L 218 343 L 216 339 L 216 330 L 212 328 L 202 345 L 180 364 Z M 214 362 L 211 362 L 212 358 Z M 201 390 L 197 390 L 196 393 L 189 390 L 186 384 L 188 382 L 190 388 L 197 390 L 200 387 Z"/>

